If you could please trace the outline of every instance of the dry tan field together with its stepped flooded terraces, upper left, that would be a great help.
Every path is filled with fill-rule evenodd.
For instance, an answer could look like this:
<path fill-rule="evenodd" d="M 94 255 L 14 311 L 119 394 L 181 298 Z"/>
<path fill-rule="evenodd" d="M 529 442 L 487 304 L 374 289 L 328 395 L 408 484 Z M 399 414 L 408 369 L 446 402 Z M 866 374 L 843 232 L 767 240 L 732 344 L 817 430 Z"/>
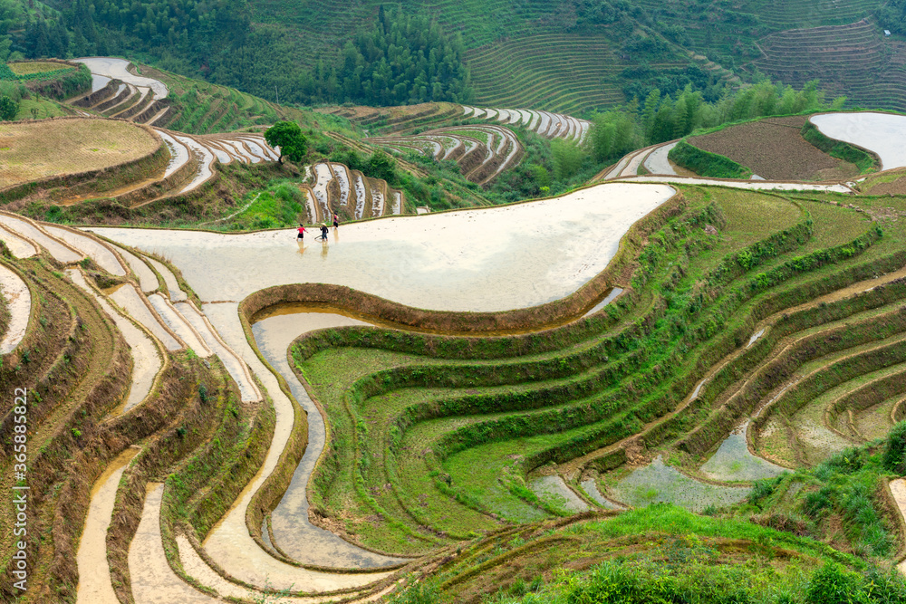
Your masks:
<path fill-rule="evenodd" d="M 72 206 L 107 198 L 139 207 L 197 192 L 217 177 L 215 164 L 257 164 L 279 156 L 256 133 L 191 136 L 123 120 L 86 118 L 5 127 L 9 167 L 0 189 L 11 208 L 34 199 Z M 47 140 L 62 144 L 48 150 Z M 30 158 L 41 154 L 40 161 Z M 117 176 L 107 170 L 117 168 Z M 35 177 L 43 177 L 35 181 Z"/>

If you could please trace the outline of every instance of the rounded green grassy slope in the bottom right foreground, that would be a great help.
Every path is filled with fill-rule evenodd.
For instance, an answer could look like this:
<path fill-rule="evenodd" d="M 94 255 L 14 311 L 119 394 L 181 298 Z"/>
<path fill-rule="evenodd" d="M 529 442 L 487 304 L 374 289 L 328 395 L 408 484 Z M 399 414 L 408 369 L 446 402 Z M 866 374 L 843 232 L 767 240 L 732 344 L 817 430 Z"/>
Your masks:
<path fill-rule="evenodd" d="M 896 570 L 735 519 L 655 504 L 612 518 L 526 524 L 441 561 L 394 604 L 899 602 Z"/>

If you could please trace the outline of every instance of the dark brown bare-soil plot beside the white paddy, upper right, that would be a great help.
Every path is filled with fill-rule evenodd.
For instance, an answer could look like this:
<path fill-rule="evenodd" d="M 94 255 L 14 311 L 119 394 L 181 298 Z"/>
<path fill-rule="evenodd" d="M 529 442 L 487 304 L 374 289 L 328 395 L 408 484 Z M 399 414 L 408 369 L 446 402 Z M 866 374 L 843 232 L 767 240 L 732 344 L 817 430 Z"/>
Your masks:
<path fill-rule="evenodd" d="M 726 156 L 768 180 L 846 180 L 859 173 L 799 134 L 805 116 L 768 118 L 690 137 L 689 143 Z"/>

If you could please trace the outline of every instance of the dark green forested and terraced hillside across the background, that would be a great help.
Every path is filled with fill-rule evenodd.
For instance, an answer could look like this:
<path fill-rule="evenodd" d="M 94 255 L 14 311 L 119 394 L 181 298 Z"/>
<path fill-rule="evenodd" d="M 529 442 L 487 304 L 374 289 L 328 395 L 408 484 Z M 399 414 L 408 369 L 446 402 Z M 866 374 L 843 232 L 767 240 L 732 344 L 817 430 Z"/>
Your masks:
<path fill-rule="evenodd" d="M 899 0 L 0 0 L 0 59 L 128 55 L 304 104 L 587 115 L 687 86 L 716 101 L 764 74 L 904 109 L 904 39 Z"/>

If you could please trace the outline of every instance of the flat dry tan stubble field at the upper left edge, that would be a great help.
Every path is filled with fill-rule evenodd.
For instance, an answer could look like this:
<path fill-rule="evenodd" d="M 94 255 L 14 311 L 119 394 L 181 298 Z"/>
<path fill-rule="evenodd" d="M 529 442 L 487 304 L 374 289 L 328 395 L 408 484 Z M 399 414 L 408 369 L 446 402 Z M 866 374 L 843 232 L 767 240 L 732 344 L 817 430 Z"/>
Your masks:
<path fill-rule="evenodd" d="M 0 125 L 0 188 L 110 168 L 159 147 L 145 129 L 114 120 L 39 120 Z"/>

